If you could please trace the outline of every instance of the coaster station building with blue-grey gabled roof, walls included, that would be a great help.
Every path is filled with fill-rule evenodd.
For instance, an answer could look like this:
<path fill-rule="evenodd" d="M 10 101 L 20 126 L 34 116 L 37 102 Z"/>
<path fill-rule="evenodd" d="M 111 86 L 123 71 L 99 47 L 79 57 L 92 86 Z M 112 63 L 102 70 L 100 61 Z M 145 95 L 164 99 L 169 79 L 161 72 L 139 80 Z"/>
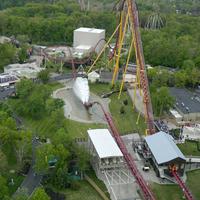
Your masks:
<path fill-rule="evenodd" d="M 155 133 L 145 137 L 144 145 L 146 155 L 159 177 L 170 179 L 170 167 L 173 166 L 181 176 L 184 174 L 186 158 L 171 135 L 164 132 Z"/>

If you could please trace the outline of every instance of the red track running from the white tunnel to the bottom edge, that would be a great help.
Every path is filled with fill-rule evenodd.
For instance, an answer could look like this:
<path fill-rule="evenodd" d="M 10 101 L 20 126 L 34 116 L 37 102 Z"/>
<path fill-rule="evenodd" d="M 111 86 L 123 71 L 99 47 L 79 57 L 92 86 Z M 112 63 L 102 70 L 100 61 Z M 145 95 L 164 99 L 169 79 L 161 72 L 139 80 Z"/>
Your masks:
<path fill-rule="evenodd" d="M 133 158 L 128 153 L 128 150 L 127 150 L 126 146 L 124 145 L 124 142 L 123 142 L 122 138 L 120 137 L 120 134 L 119 134 L 117 128 L 115 127 L 114 123 L 113 123 L 112 116 L 110 115 L 110 113 L 108 113 L 104 110 L 103 106 L 99 102 L 94 102 L 92 104 L 95 104 L 95 103 L 99 104 L 101 109 L 103 110 L 104 116 L 105 116 L 105 118 L 108 122 L 108 125 L 109 125 L 109 127 L 112 131 L 112 136 L 115 138 L 115 141 L 117 142 L 121 152 L 123 153 L 123 156 L 126 160 L 126 163 L 129 167 L 131 173 L 135 177 L 138 185 L 140 186 L 140 188 L 143 192 L 143 195 L 144 195 L 144 199 L 145 200 L 155 200 L 155 197 L 154 197 L 151 189 L 149 188 L 146 181 L 142 177 L 141 173 L 137 169 L 137 166 L 136 166 Z"/>

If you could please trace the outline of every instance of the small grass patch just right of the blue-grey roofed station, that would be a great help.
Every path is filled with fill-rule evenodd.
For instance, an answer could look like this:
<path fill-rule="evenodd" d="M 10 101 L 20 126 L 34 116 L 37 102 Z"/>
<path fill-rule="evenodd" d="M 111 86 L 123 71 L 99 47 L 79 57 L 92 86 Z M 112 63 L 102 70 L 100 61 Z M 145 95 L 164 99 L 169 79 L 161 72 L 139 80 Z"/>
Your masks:
<path fill-rule="evenodd" d="M 178 147 L 184 155 L 200 156 L 196 142 L 186 140 L 184 144 L 178 144 Z"/>

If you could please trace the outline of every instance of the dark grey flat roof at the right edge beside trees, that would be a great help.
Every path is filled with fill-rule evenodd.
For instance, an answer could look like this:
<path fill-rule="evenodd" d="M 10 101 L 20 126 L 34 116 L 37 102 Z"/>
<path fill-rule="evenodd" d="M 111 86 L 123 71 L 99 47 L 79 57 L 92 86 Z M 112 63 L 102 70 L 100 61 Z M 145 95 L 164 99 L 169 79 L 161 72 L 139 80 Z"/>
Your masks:
<path fill-rule="evenodd" d="M 200 112 L 200 94 L 182 88 L 170 88 L 170 93 L 175 97 L 178 110 L 182 113 Z"/>

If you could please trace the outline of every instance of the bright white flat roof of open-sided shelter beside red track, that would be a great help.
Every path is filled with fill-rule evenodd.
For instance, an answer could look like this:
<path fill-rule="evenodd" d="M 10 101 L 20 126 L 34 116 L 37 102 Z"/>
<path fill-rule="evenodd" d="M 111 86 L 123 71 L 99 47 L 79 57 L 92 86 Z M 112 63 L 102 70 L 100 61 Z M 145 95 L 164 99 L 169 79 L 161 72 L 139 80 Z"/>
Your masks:
<path fill-rule="evenodd" d="M 87 132 L 100 158 L 123 156 L 108 129 L 91 129 Z"/>

